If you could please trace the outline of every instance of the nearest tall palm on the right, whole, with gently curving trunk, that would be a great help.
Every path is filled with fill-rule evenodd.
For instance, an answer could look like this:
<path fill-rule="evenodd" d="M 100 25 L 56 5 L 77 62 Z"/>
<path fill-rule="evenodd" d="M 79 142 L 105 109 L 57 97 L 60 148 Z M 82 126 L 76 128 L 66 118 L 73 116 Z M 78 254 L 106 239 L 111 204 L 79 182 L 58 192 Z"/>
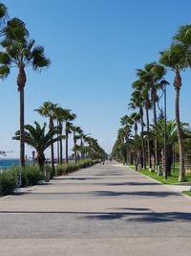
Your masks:
<path fill-rule="evenodd" d="M 166 51 L 160 53 L 159 62 L 166 67 L 169 67 L 174 73 L 174 86 L 176 91 L 176 122 L 177 132 L 180 146 L 180 175 L 179 181 L 184 180 L 184 159 L 183 159 L 183 140 L 182 131 L 180 128 L 180 88 L 181 88 L 181 77 L 180 72 L 189 66 L 189 58 L 187 48 L 180 44 L 172 44 Z"/>

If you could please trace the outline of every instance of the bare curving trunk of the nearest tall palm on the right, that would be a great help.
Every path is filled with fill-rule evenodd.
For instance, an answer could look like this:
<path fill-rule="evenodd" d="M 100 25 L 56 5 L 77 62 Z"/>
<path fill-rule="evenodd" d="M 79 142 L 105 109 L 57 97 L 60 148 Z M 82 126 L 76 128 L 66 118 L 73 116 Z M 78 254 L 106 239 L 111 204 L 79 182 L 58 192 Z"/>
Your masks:
<path fill-rule="evenodd" d="M 183 140 L 180 128 L 180 88 L 176 87 L 176 122 L 177 122 L 177 133 L 180 147 L 180 175 L 179 181 L 184 181 L 184 159 L 183 159 Z"/>

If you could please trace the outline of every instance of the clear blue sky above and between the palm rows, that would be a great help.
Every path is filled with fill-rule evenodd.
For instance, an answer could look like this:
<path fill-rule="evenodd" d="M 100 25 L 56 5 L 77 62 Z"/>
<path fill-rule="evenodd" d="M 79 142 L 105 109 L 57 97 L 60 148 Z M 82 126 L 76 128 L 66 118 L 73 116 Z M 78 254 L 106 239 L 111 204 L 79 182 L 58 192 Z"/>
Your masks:
<path fill-rule="evenodd" d="M 10 16 L 21 18 L 31 37 L 43 45 L 52 65 L 41 73 L 27 70 L 26 124 L 43 123 L 34 108 L 53 101 L 71 108 L 75 124 L 110 152 L 121 116 L 128 114 L 136 69 L 159 59 L 179 26 L 191 23 L 189 0 L 5 0 Z M 11 140 L 19 124 L 17 70 L 0 86 L 0 150 L 19 155 Z M 171 82 L 173 77 L 167 79 Z M 181 120 L 189 115 L 191 71 L 183 74 Z M 174 118 L 174 88 L 168 89 L 168 117 Z M 32 149 L 26 153 L 31 155 Z"/>

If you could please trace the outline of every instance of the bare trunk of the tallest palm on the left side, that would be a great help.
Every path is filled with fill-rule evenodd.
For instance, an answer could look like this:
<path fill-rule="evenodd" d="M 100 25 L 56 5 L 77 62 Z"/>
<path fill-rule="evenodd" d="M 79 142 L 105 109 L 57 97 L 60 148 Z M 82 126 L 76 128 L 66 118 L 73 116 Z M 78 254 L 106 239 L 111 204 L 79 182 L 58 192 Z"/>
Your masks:
<path fill-rule="evenodd" d="M 25 168 L 24 86 L 20 89 L 20 166 Z"/>

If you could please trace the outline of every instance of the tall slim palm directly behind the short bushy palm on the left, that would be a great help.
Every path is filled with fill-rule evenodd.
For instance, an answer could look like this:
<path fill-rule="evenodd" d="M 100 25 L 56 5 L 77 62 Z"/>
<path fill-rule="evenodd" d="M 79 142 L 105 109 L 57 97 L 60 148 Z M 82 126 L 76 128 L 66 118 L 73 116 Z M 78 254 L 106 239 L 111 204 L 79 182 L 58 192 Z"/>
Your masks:
<path fill-rule="evenodd" d="M 38 109 L 34 109 L 37 111 L 41 116 L 45 116 L 49 118 L 49 129 L 53 128 L 53 119 L 55 119 L 55 108 L 56 104 L 52 102 L 44 102 Z M 54 171 L 54 152 L 53 152 L 53 145 L 51 145 L 51 161 L 52 161 L 52 168 Z"/>

